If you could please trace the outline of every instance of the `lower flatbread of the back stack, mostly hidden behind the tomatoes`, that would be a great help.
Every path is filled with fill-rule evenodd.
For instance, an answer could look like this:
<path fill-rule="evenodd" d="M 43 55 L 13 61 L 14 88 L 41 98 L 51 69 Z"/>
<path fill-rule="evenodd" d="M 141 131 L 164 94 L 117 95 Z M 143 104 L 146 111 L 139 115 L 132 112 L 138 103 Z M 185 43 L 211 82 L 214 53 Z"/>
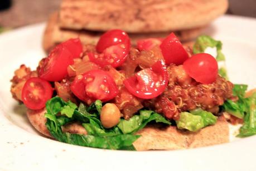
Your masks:
<path fill-rule="evenodd" d="M 174 31 L 176 36 L 182 41 L 191 41 L 201 34 L 206 26 L 192 28 L 189 30 Z M 128 33 L 131 37 L 133 45 L 136 45 L 137 40 L 150 37 L 166 37 L 172 31 L 167 32 L 151 32 L 151 33 Z M 51 48 L 57 44 L 68 40 L 69 38 L 79 37 L 83 44 L 95 45 L 99 37 L 103 32 L 94 32 L 86 30 L 67 30 L 59 27 L 59 15 L 57 12 L 52 13 L 47 23 L 44 38 L 43 47 L 46 52 L 49 52 Z"/>

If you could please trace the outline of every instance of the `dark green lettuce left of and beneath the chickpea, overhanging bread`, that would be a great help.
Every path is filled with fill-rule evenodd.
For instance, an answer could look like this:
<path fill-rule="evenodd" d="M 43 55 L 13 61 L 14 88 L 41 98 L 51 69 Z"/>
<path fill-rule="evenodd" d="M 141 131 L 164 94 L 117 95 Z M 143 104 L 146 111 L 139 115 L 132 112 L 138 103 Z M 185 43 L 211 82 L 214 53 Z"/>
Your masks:
<path fill-rule="evenodd" d="M 100 104 L 101 102 L 98 101 L 96 104 L 93 104 L 95 109 L 90 106 L 87 110 L 98 111 L 100 109 Z M 98 109 L 96 109 L 96 105 L 98 105 Z M 79 111 L 75 108 L 75 104 L 65 102 L 60 97 L 54 97 L 47 101 L 47 113 L 45 114 L 45 117 L 47 118 L 46 127 L 50 131 L 50 134 L 56 140 L 69 144 L 103 149 L 134 149 L 132 143 L 139 138 L 139 135 L 122 134 L 118 128 L 106 131 L 101 125 L 99 118 L 95 117 L 94 113 L 88 113 L 84 107 L 85 106 L 80 107 Z M 82 110 L 84 113 L 81 112 Z M 59 113 L 62 115 L 59 116 Z M 83 126 L 85 124 L 90 124 L 90 127 L 85 126 L 88 128 L 88 130 L 86 129 L 88 135 L 62 132 L 61 126 L 71 123 L 72 121 L 80 121 L 83 123 Z"/>

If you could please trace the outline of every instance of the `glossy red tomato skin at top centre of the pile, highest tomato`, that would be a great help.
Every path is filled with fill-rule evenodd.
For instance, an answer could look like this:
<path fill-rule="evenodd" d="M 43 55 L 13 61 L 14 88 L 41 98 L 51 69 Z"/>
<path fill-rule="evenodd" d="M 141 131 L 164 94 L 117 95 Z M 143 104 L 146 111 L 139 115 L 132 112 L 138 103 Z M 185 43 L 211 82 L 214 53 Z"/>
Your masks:
<path fill-rule="evenodd" d="M 120 43 L 126 44 L 130 41 L 129 36 L 122 30 L 114 29 L 105 32 L 96 45 L 96 51 L 102 53 L 106 48 Z M 130 43 L 131 44 L 131 43 Z"/>

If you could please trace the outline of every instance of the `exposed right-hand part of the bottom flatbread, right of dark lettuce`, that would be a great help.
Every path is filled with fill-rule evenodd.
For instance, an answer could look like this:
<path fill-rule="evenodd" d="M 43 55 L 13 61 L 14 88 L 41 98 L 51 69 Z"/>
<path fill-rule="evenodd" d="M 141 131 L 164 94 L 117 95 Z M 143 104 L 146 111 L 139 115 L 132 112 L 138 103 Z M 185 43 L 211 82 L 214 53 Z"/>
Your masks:
<path fill-rule="evenodd" d="M 207 126 L 196 133 L 177 130 L 175 126 L 161 129 L 160 126 L 151 125 L 137 134 L 142 135 L 133 143 L 138 151 L 177 150 L 229 142 L 229 126 L 223 116 L 215 125 Z"/>

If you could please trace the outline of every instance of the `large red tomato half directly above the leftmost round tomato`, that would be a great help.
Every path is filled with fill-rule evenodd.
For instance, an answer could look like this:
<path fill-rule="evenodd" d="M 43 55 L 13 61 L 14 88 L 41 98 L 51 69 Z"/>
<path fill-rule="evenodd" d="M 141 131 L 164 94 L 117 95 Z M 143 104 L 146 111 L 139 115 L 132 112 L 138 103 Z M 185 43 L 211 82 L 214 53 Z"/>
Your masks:
<path fill-rule="evenodd" d="M 67 66 L 73 63 L 70 51 L 62 44 L 57 45 L 41 63 L 39 76 L 47 81 L 61 81 L 67 76 Z"/>

